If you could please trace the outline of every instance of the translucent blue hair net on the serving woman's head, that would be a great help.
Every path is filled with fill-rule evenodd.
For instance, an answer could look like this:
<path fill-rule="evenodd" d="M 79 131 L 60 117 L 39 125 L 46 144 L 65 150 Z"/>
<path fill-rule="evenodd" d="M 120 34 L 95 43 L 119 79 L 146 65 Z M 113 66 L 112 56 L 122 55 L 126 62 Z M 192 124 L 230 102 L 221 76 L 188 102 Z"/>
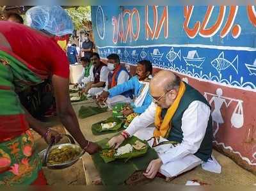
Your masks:
<path fill-rule="evenodd" d="M 26 24 L 56 36 L 72 34 L 73 22 L 61 6 L 34 6 L 26 12 Z"/>

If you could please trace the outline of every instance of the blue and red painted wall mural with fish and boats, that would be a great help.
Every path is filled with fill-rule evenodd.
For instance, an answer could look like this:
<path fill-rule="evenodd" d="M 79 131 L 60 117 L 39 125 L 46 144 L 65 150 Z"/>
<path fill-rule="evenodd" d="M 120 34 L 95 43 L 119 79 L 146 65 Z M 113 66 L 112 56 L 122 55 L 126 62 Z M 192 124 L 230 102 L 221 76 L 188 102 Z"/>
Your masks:
<path fill-rule="evenodd" d="M 256 173 L 255 6 L 93 6 L 95 43 L 172 70 L 212 105 L 216 148 Z"/>

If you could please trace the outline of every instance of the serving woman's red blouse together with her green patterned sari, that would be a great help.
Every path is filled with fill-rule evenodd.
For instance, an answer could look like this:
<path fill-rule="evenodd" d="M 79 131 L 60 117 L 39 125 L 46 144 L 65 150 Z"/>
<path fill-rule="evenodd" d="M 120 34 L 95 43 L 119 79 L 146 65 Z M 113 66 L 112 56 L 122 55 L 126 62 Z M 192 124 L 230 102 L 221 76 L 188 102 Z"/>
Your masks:
<path fill-rule="evenodd" d="M 0 21 L 0 33 L 12 47 L 0 46 L 0 186 L 45 185 L 42 162 L 16 92 L 52 75 L 68 78 L 68 59 L 54 38 L 29 27 Z"/>

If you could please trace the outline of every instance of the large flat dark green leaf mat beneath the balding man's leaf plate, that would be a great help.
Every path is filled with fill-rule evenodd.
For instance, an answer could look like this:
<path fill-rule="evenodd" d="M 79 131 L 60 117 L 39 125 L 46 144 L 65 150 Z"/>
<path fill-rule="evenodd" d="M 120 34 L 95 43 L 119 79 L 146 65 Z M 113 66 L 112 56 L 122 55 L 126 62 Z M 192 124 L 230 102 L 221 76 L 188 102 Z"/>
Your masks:
<path fill-rule="evenodd" d="M 109 139 L 103 139 L 97 143 L 102 146 L 102 149 L 107 149 L 108 141 Z M 142 157 L 131 158 L 127 162 L 124 162 L 124 160 L 114 160 L 106 163 L 102 157 L 100 157 L 100 153 L 92 155 L 92 160 L 100 174 L 103 185 L 124 185 L 125 180 L 127 180 L 131 174 L 135 171 L 145 171 L 148 164 L 157 158 L 158 155 L 156 151 L 150 146 L 148 146 L 147 152 Z"/>

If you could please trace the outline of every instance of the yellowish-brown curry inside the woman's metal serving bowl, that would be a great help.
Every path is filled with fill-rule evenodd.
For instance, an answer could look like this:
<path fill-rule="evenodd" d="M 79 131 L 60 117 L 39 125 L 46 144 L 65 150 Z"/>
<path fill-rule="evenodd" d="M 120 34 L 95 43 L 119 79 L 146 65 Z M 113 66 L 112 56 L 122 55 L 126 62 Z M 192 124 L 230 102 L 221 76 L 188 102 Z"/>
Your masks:
<path fill-rule="evenodd" d="M 78 157 L 80 152 L 70 146 L 51 149 L 48 157 L 48 164 L 62 164 Z"/>

